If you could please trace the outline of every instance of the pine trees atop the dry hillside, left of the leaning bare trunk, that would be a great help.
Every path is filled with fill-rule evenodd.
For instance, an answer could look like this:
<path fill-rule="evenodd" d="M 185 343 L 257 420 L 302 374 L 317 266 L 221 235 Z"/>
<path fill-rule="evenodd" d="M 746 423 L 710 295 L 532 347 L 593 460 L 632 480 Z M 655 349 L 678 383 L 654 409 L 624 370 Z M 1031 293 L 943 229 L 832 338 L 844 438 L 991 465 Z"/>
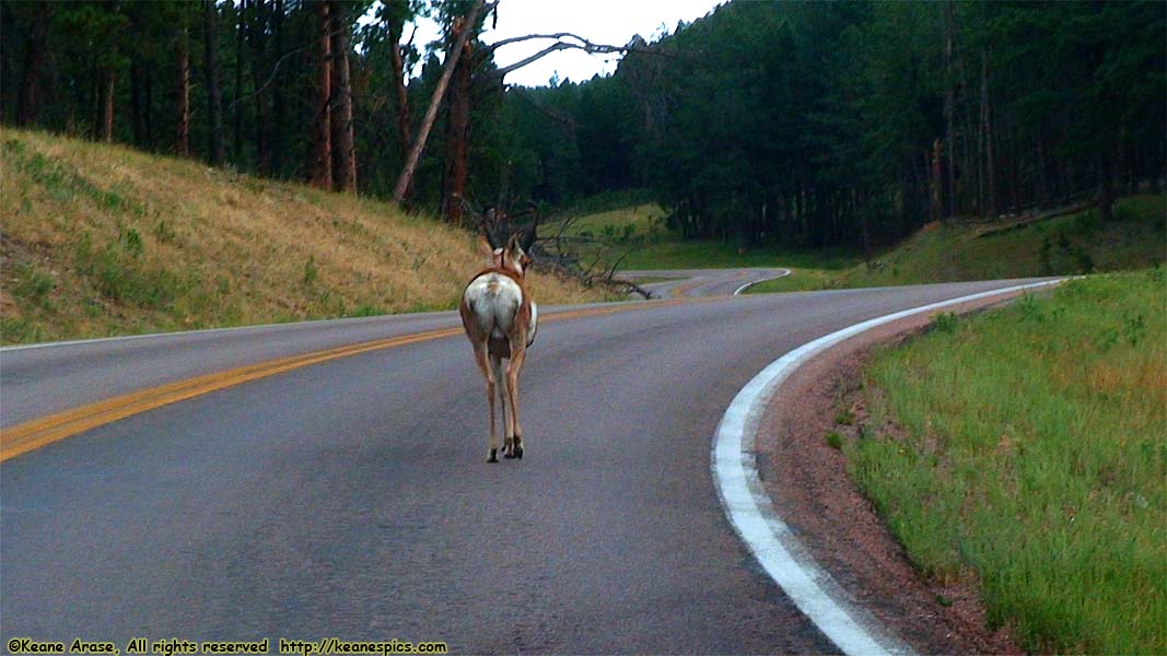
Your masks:
<path fill-rule="evenodd" d="M 428 44 L 406 27 L 422 12 L 452 22 L 469 5 L 5 0 L 2 117 L 387 195 L 433 77 L 427 65 L 407 78 Z"/>

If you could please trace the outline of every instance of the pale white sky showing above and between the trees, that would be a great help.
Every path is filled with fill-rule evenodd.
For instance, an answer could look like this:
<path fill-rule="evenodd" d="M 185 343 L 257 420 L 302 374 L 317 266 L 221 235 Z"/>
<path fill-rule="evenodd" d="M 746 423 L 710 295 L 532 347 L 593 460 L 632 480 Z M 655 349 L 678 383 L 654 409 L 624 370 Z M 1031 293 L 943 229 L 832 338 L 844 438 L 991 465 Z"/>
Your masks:
<path fill-rule="evenodd" d="M 672 33 L 677 21 L 692 22 L 726 0 L 502 0 L 498 4 L 498 29 L 482 34 L 483 43 L 511 36 L 569 32 L 593 43 L 623 46 L 640 34 L 652 41 L 662 32 Z M 408 28 L 407 28 L 408 29 Z M 438 39 L 436 23 L 418 26 L 414 43 Z M 408 35 L 408 32 L 406 32 Z M 536 40 L 503 46 L 495 54 L 499 68 L 538 53 L 553 43 Z M 616 71 L 620 55 L 588 55 L 580 50 L 560 50 L 506 75 L 506 84 L 546 85 L 552 75 L 560 81 L 584 82 L 593 75 Z"/>

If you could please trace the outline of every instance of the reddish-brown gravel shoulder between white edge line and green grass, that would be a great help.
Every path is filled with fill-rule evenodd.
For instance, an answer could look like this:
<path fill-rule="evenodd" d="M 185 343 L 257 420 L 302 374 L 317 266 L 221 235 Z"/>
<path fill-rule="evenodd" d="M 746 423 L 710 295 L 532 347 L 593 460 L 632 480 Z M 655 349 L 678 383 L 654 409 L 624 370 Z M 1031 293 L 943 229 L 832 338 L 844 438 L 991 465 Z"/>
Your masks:
<path fill-rule="evenodd" d="M 993 296 L 944 308 L 965 313 L 1009 300 Z M 818 564 L 893 633 L 923 654 L 1023 654 L 1007 628 L 990 630 L 974 582 L 921 577 L 872 503 L 847 475 L 829 431 L 855 439 L 866 420 L 860 383 L 873 347 L 918 333 L 936 313 L 920 314 L 847 340 L 798 369 L 778 390 L 759 426 L 762 481 L 778 515 Z M 840 410 L 854 421 L 838 425 Z"/>

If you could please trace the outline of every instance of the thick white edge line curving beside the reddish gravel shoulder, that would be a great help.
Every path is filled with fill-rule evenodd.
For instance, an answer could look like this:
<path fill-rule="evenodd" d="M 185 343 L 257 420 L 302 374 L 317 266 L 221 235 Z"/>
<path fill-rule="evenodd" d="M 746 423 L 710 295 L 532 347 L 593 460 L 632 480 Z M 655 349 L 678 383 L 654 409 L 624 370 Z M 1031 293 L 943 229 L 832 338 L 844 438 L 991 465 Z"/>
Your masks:
<path fill-rule="evenodd" d="M 1057 285 L 1046 280 L 980 292 L 920 306 L 855 323 L 808 342 L 771 362 L 734 397 L 713 437 L 712 469 L 718 496 L 729 523 L 766 572 L 844 654 L 910 654 L 911 649 L 850 601 L 841 588 L 802 547 L 778 516 L 757 476 L 754 435 L 775 391 L 811 357 L 860 333 L 934 309 Z"/>

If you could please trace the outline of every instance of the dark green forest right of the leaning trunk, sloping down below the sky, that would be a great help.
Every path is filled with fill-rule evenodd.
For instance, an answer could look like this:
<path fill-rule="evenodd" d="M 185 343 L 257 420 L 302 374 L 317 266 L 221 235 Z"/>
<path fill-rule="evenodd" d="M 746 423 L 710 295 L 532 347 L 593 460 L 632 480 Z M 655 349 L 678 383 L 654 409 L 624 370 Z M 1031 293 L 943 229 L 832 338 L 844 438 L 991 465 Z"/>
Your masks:
<path fill-rule="evenodd" d="M 543 126 L 538 195 L 647 187 L 690 236 L 859 245 L 1083 197 L 1109 216 L 1162 182 L 1165 12 L 731 2 L 509 106 Z"/>

